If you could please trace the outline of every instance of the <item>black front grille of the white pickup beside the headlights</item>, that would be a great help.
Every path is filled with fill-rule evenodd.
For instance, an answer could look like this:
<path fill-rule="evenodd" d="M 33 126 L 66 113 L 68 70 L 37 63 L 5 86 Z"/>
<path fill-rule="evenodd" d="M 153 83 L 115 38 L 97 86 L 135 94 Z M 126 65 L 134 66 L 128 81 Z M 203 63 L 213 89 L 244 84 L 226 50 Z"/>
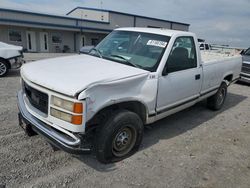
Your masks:
<path fill-rule="evenodd" d="M 23 88 L 30 104 L 41 112 L 48 114 L 48 95 L 30 87 L 25 82 Z"/>

